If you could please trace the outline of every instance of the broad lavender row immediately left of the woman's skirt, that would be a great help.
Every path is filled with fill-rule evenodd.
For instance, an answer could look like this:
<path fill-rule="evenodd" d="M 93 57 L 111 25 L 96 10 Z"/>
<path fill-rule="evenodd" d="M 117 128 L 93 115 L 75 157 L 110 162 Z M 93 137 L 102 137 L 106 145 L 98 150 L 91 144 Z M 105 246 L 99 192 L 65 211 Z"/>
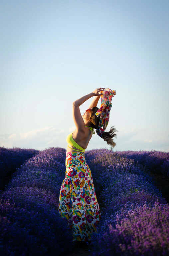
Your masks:
<path fill-rule="evenodd" d="M 73 249 L 72 232 L 58 212 L 65 158 L 62 148 L 39 152 L 1 191 L 0 255 L 65 255 Z"/>

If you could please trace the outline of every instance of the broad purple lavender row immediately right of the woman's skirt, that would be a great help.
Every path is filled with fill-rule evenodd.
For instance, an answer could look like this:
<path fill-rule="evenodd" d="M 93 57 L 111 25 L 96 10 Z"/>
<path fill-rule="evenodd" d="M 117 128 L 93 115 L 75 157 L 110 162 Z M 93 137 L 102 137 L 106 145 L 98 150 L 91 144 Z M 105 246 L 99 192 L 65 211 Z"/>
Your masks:
<path fill-rule="evenodd" d="M 85 158 L 102 215 L 90 255 L 169 255 L 169 204 L 146 167 L 106 149 Z"/>

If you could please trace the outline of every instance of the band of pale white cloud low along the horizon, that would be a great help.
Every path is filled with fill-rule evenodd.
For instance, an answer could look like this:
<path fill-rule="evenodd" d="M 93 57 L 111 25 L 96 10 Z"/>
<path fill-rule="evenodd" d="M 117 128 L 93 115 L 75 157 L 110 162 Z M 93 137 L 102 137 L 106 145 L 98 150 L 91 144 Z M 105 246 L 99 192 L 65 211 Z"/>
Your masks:
<path fill-rule="evenodd" d="M 66 128 L 66 127 L 64 127 Z M 59 129 L 58 127 L 46 126 L 41 129 L 29 131 L 20 134 L 1 134 L 0 146 L 6 148 L 20 147 L 44 150 L 47 147 L 67 147 L 66 137 L 76 127 L 73 126 L 68 129 Z M 107 129 L 108 131 L 109 129 Z M 169 151 L 169 137 L 165 134 L 161 137 L 148 138 L 142 129 L 126 129 L 124 127 L 118 129 L 116 132 L 117 138 L 114 138 L 116 146 L 113 151 L 126 151 L 126 150 L 160 150 Z M 146 137 L 145 137 L 146 136 Z M 94 148 L 109 148 L 110 146 L 101 139 L 96 133 L 92 136 L 88 144 L 87 150 Z"/>

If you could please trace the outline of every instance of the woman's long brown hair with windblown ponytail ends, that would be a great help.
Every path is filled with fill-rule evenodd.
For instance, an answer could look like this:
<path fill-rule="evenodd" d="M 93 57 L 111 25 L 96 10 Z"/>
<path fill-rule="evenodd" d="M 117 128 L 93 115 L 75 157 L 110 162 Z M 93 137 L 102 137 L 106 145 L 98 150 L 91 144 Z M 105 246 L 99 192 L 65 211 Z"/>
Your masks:
<path fill-rule="evenodd" d="M 98 108 L 97 107 L 93 107 L 90 110 L 90 124 L 94 129 L 98 129 L 98 125 L 99 125 L 99 121 L 100 121 L 100 117 L 96 116 L 95 113 L 97 112 Z M 103 132 L 101 138 L 107 142 L 108 145 L 112 146 L 113 148 L 115 147 L 116 143 L 113 141 L 113 137 L 117 138 L 117 134 L 115 134 L 114 132 L 116 132 L 117 130 L 115 128 L 113 128 L 114 126 L 111 126 L 110 131 L 109 132 Z M 117 131 L 118 132 L 118 131 Z"/>

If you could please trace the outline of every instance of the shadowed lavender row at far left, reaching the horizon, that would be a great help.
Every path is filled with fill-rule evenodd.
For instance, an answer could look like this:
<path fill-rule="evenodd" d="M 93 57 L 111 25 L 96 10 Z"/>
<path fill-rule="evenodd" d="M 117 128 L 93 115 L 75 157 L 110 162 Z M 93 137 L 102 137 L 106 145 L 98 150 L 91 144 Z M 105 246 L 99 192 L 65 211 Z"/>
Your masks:
<path fill-rule="evenodd" d="M 4 148 L 0 147 L 0 189 L 2 180 L 10 176 L 26 160 L 37 154 L 39 150 L 21 149 L 21 148 Z"/>

